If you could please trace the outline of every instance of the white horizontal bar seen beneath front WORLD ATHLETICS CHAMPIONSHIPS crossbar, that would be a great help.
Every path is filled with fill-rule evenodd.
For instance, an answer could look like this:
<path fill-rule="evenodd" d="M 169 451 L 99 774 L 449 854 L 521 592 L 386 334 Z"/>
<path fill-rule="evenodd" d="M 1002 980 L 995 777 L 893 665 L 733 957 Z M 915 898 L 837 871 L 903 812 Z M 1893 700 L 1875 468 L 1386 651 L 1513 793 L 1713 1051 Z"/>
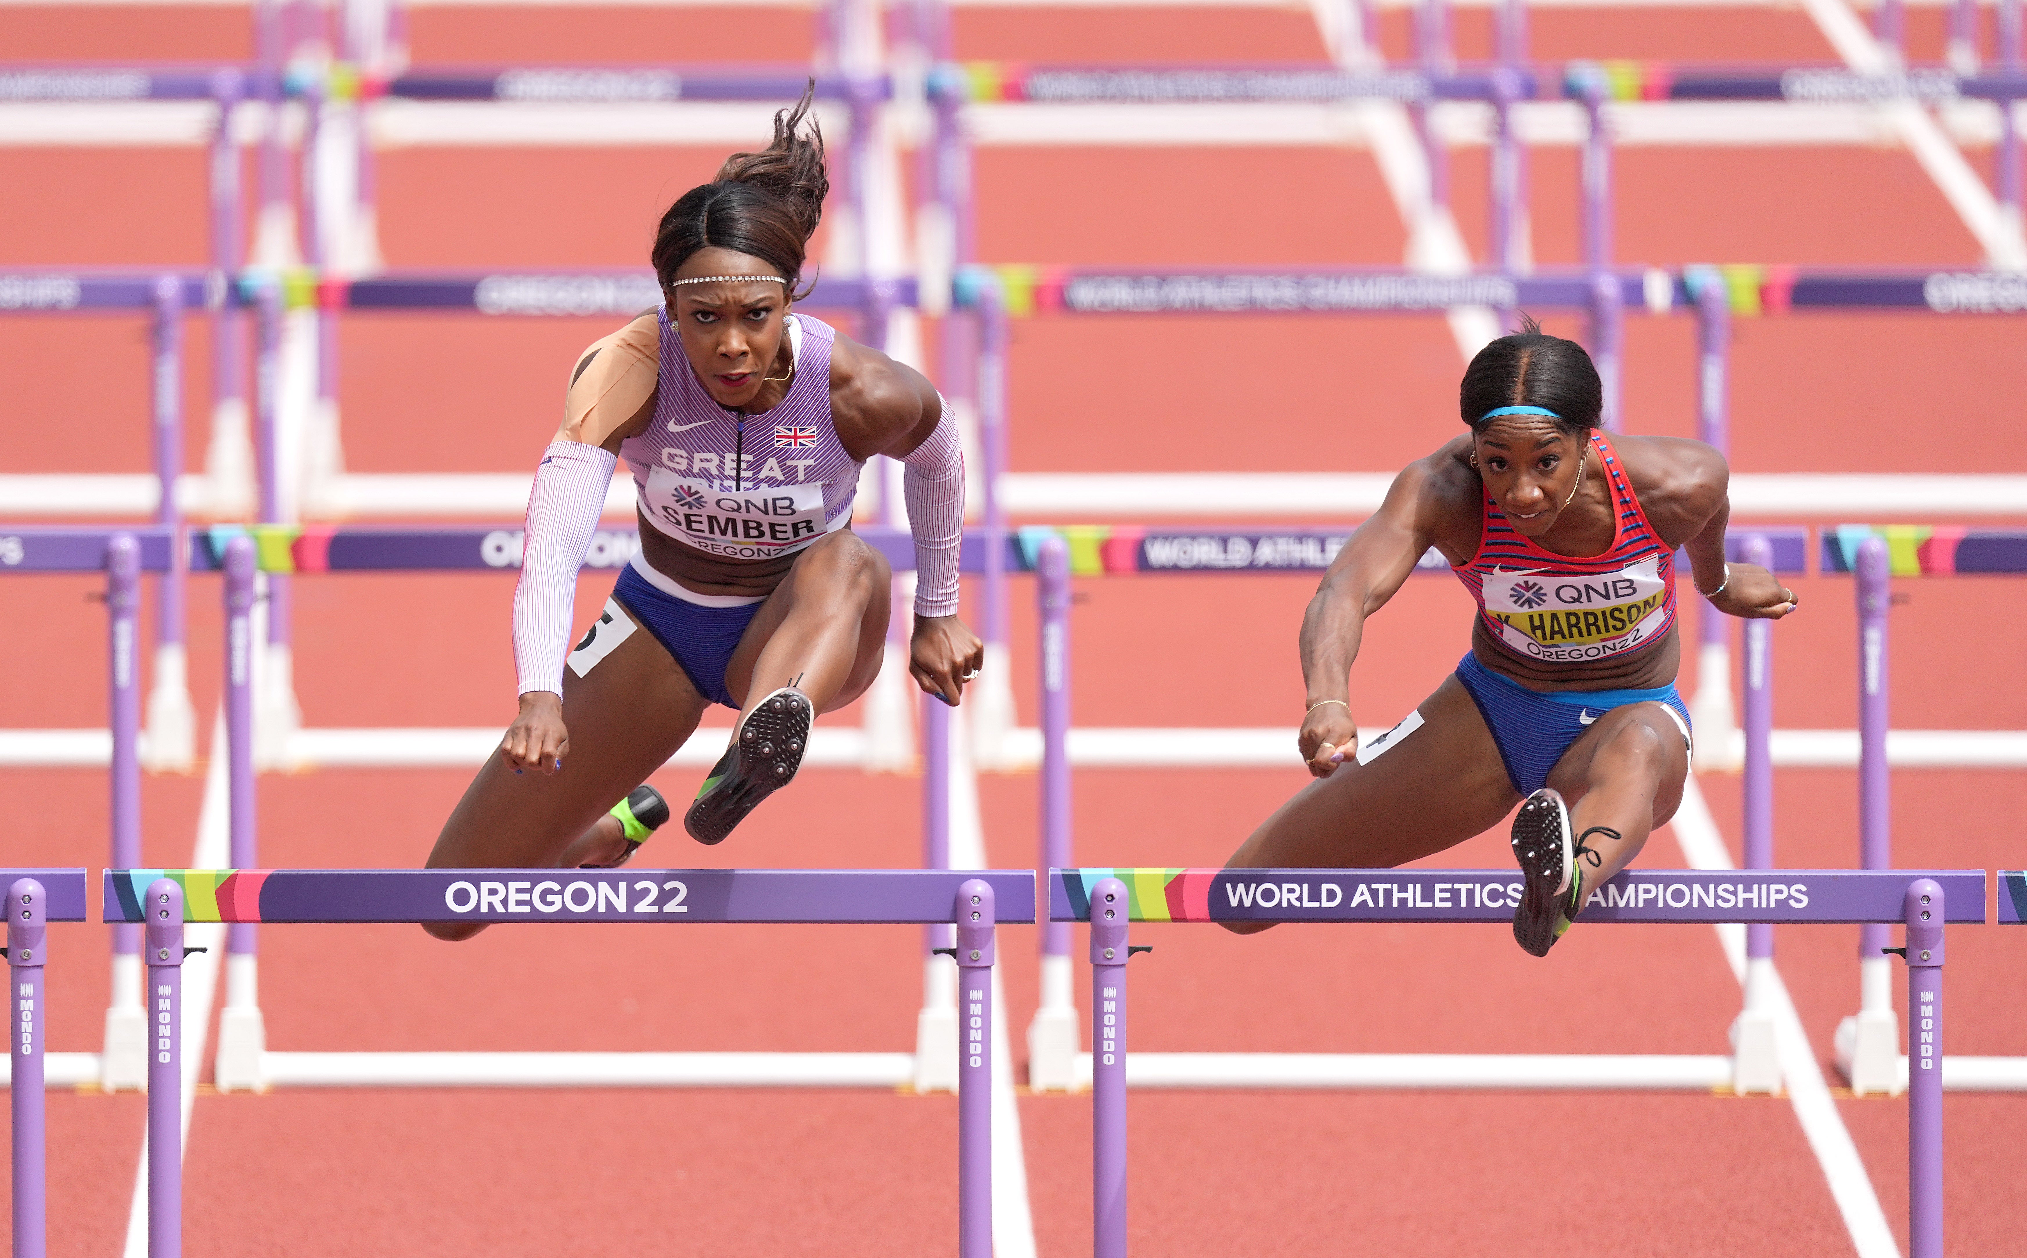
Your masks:
<path fill-rule="evenodd" d="M 1731 1057 L 1589 1053 L 1127 1053 L 1129 1088 L 1731 1090 Z M 1091 1088 L 1091 1053 L 1076 1055 Z"/>

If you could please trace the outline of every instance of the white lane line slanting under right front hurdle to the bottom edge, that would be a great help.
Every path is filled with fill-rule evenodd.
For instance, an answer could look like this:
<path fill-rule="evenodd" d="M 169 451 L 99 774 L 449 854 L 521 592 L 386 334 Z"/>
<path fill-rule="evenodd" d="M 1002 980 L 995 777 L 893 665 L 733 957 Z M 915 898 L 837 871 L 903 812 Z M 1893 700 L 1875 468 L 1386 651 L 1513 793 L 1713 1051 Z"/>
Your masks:
<path fill-rule="evenodd" d="M 1682 806 L 1676 808 L 1670 824 L 1691 869 L 1735 867 L 1695 776 L 1682 782 Z M 1723 924 L 1717 928 L 1717 940 L 1725 948 L 1733 976 L 1743 985 L 1745 928 L 1735 922 Z M 1899 1258 L 1893 1228 L 1879 1207 L 1879 1193 L 1873 1191 L 1873 1179 L 1865 1171 L 1859 1147 L 1851 1141 L 1845 1116 L 1836 1112 L 1836 1100 L 1830 1098 L 1830 1088 L 1822 1080 L 1816 1049 L 1808 1043 L 1802 1017 L 1788 997 L 1788 985 L 1780 970 L 1770 970 L 1770 978 L 1768 1005 L 1774 1013 L 1774 1041 L 1780 1051 L 1782 1076 L 1788 1082 L 1788 1100 L 1794 1104 L 1794 1116 L 1802 1122 L 1802 1136 L 1822 1165 L 1822 1177 L 1830 1185 L 1836 1211 L 1845 1217 L 1845 1230 L 1851 1232 L 1851 1244 L 1859 1258 Z"/>

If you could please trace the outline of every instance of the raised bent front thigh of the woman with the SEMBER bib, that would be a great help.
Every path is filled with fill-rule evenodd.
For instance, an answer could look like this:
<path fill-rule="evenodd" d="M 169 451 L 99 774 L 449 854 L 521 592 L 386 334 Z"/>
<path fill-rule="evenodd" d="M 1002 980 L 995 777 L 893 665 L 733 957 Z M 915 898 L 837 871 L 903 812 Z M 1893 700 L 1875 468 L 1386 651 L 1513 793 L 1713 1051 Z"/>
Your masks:
<path fill-rule="evenodd" d="M 815 610 L 817 616 L 829 616 L 845 610 L 857 614 L 853 658 L 843 687 L 823 705 L 823 711 L 837 711 L 851 703 L 880 675 L 892 589 L 894 567 L 886 555 L 870 547 L 857 533 L 831 533 L 797 555 L 789 575 L 754 612 L 746 632 L 740 634 L 738 650 L 726 660 L 726 691 L 740 703 L 746 701 L 760 652 L 782 628 L 791 632 L 801 628 L 791 624 L 799 612 Z"/>

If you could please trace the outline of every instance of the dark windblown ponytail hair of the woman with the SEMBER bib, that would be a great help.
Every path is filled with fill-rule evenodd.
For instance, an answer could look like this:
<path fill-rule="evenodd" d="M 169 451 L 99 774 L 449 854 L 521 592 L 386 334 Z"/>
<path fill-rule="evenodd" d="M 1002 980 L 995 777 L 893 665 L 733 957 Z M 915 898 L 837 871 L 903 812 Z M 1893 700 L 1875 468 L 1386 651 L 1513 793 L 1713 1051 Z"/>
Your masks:
<path fill-rule="evenodd" d="M 823 172 L 823 128 L 809 109 L 817 81 L 803 89 L 795 109 L 774 115 L 774 142 L 760 152 L 736 152 L 718 168 L 718 178 L 699 184 L 669 207 L 655 231 L 655 278 L 669 282 L 697 249 L 750 253 L 780 271 L 791 298 L 803 280 L 803 249 L 823 219 L 823 196 L 831 178 Z M 803 120 L 809 117 L 809 134 Z"/>

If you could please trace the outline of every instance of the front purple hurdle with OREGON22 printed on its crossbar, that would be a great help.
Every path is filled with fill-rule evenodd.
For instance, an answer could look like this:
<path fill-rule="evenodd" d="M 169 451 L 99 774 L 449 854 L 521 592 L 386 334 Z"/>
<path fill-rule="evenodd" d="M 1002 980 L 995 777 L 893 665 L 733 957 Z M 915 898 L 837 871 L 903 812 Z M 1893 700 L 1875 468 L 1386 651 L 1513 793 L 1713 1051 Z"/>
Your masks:
<path fill-rule="evenodd" d="M 963 1017 L 951 1027 L 959 1068 L 957 1252 L 991 1258 L 993 928 L 1034 916 L 1032 869 L 107 869 L 105 920 L 146 924 L 148 991 L 166 1039 L 148 1057 L 148 1254 L 176 1258 L 182 1244 L 182 1141 L 172 1132 L 189 1130 L 197 1078 L 195 1055 L 186 1059 L 180 1047 L 184 922 L 229 922 L 233 932 L 249 932 L 255 922 L 898 922 L 955 928 L 951 954 L 963 974 Z M 669 1084 L 661 1074 L 628 1078 L 614 1068 L 596 1082 Z M 687 1082 L 780 1080 L 760 1070 L 754 1078 Z"/>

